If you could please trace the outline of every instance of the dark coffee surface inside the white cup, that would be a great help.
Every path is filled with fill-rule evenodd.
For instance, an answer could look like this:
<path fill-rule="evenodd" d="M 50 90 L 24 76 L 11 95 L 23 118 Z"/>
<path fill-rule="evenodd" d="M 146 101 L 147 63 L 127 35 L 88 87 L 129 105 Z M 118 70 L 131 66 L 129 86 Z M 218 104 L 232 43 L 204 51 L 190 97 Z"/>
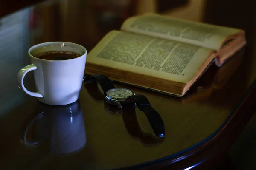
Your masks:
<path fill-rule="evenodd" d="M 47 59 L 47 60 L 67 60 L 67 59 L 74 59 L 80 56 L 81 55 L 76 54 L 74 52 L 70 52 L 70 51 L 50 51 L 50 52 L 38 54 L 35 57 L 40 59 Z"/>

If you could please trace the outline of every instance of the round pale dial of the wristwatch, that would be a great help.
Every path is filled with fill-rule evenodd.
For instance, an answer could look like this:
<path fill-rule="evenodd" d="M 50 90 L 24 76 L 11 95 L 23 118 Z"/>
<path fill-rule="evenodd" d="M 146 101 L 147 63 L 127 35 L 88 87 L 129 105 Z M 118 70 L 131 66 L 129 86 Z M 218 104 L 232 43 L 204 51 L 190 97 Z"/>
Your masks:
<path fill-rule="evenodd" d="M 125 88 L 113 88 L 108 90 L 106 94 L 108 98 L 111 97 L 116 100 L 122 100 L 126 99 L 129 96 L 132 96 L 133 92 Z"/>

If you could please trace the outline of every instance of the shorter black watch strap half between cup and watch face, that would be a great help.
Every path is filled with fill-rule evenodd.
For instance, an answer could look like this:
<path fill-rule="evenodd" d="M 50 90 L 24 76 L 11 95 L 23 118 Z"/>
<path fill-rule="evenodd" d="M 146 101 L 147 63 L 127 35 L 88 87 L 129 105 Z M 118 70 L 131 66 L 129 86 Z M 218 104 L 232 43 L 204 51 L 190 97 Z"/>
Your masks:
<path fill-rule="evenodd" d="M 106 91 L 112 88 L 116 88 L 113 82 L 108 78 L 108 76 L 105 76 L 102 74 L 96 74 L 96 75 L 84 74 L 84 82 L 90 82 L 90 81 L 97 81 L 101 86 L 102 90 L 104 91 L 104 93 L 106 93 Z"/>

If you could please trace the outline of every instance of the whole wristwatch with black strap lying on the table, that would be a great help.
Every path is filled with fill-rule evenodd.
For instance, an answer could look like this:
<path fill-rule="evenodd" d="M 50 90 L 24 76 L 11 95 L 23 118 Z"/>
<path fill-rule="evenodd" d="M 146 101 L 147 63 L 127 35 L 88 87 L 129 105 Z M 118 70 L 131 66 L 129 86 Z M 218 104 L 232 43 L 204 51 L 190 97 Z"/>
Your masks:
<path fill-rule="evenodd" d="M 119 109 L 125 106 L 136 105 L 148 118 L 151 127 L 157 137 L 164 137 L 165 129 L 161 116 L 152 108 L 148 99 L 141 94 L 135 94 L 126 88 L 116 88 L 113 82 L 103 74 L 84 74 L 84 82 L 98 82 L 104 92 L 104 100 L 110 105 L 116 105 Z"/>

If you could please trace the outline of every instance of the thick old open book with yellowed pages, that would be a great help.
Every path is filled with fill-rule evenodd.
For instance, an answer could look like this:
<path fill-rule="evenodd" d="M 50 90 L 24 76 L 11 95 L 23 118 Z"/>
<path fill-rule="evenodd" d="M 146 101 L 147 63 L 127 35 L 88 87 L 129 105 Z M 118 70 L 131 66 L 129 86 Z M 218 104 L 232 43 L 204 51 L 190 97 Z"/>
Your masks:
<path fill-rule="evenodd" d="M 87 55 L 85 72 L 183 96 L 201 74 L 246 44 L 244 31 L 159 14 L 128 18 Z"/>

